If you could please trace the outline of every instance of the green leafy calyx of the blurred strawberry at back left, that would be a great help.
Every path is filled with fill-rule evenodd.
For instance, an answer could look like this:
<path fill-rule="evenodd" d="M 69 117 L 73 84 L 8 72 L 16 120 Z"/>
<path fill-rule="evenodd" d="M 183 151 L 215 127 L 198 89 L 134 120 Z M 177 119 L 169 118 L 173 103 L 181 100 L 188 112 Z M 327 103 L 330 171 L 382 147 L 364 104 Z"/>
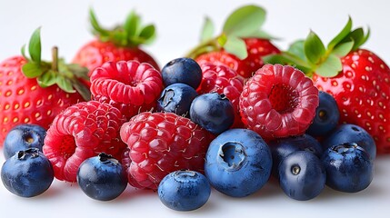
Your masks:
<path fill-rule="evenodd" d="M 94 35 L 102 42 L 111 42 L 119 47 L 136 47 L 150 45 L 155 40 L 155 25 L 142 25 L 141 17 L 135 11 L 127 15 L 123 25 L 117 25 L 111 30 L 99 24 L 92 8 L 89 10 L 89 20 Z"/>

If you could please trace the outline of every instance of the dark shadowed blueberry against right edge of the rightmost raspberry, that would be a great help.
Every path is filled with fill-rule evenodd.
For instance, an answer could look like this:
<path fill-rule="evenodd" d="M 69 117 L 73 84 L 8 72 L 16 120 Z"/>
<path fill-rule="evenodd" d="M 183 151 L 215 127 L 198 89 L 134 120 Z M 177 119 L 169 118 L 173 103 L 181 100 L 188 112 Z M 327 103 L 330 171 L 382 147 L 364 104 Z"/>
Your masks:
<path fill-rule="evenodd" d="M 320 91 L 318 96 L 320 103 L 315 109 L 313 123 L 310 124 L 306 133 L 313 136 L 324 136 L 335 129 L 340 119 L 340 112 L 332 95 Z"/>

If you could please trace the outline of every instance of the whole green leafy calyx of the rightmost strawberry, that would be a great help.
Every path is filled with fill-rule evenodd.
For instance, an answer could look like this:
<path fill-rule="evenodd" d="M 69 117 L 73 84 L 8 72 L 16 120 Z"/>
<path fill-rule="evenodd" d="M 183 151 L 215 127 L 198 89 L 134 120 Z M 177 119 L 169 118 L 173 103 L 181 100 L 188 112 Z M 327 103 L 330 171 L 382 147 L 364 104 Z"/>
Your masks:
<path fill-rule="evenodd" d="M 364 45 L 370 35 L 363 28 L 352 29 L 349 17 L 344 28 L 325 47 L 324 43 L 310 31 L 305 40 L 297 40 L 281 54 L 270 54 L 263 57 L 268 64 L 289 64 L 303 71 L 306 75 L 318 74 L 323 77 L 334 77 L 342 72 L 341 57 Z"/>

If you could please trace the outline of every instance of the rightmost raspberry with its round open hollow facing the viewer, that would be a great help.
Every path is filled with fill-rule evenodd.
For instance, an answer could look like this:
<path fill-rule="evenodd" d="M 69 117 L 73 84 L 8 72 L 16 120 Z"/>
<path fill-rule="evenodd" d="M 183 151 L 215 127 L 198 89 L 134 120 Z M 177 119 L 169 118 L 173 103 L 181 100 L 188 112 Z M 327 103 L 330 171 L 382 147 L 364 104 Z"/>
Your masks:
<path fill-rule="evenodd" d="M 318 89 L 292 66 L 265 64 L 244 85 L 241 116 L 265 139 L 304 134 L 319 104 Z"/>

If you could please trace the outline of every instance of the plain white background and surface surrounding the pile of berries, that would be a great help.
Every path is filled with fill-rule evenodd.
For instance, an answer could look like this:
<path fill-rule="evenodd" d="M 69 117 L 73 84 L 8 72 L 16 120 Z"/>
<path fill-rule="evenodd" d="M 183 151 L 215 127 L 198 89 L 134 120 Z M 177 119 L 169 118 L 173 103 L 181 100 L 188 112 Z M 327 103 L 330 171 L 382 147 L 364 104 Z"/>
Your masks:
<path fill-rule="evenodd" d="M 327 44 L 345 25 L 348 15 L 354 26 L 371 29 L 365 48 L 390 62 L 390 3 L 385 0 L 1 0 L 0 60 L 20 54 L 35 28 L 42 26 L 43 59 L 58 45 L 60 56 L 71 61 L 78 48 L 93 38 L 87 22 L 88 8 L 93 7 L 102 25 L 122 23 L 132 10 L 145 23 L 157 26 L 157 40 L 145 46 L 162 66 L 184 55 L 198 42 L 205 15 L 221 26 L 236 7 L 246 4 L 264 6 L 267 21 L 264 29 L 281 40 L 275 45 L 285 49 L 312 29 Z M 220 27 L 217 29 L 220 30 Z M 0 150 L 2 153 L 2 150 Z M 3 155 L 0 155 L 4 163 Z M 267 183 L 253 196 L 234 199 L 213 192 L 206 205 L 191 213 L 177 213 L 159 202 L 156 193 L 128 187 L 112 202 L 88 198 L 76 184 L 55 181 L 44 194 L 24 199 L 8 193 L 0 183 L 1 217 L 388 217 L 390 212 L 390 156 L 375 162 L 375 178 L 361 193 L 337 193 L 328 188 L 308 202 L 289 199 L 276 183 Z M 382 215 L 379 215 L 381 213 Z"/>

